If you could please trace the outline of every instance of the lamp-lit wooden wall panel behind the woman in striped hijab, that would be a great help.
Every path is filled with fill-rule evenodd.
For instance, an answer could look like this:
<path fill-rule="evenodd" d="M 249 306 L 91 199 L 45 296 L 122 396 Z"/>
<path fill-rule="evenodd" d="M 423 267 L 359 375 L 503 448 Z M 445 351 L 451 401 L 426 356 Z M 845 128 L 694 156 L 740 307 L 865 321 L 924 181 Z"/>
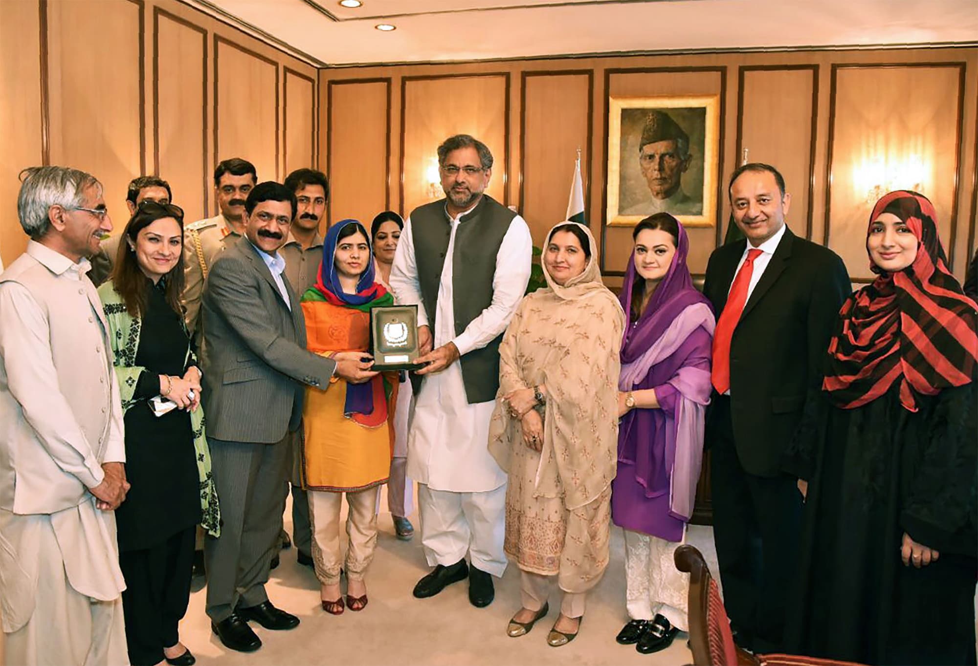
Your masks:
<path fill-rule="evenodd" d="M 876 185 L 883 186 L 878 194 L 899 188 L 925 194 L 954 256 L 962 74 L 956 63 L 833 67 L 823 240 L 855 280 L 872 279 L 866 232 Z M 880 158 L 904 166 L 884 170 Z"/>

